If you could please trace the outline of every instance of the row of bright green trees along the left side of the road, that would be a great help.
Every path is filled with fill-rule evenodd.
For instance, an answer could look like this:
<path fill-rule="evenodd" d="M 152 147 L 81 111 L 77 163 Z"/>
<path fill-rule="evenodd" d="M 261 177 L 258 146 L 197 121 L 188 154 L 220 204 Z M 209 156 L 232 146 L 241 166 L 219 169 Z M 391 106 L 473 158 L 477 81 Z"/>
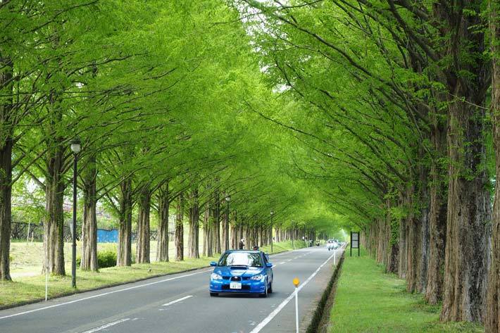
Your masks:
<path fill-rule="evenodd" d="M 151 260 L 151 211 L 161 261 L 171 215 L 176 260 L 185 227 L 192 258 L 200 226 L 206 256 L 241 238 L 268 244 L 273 226 L 277 240 L 330 230 L 325 218 L 308 222 L 326 209 L 280 172 L 293 142 L 253 103 L 282 106 L 224 1 L 0 0 L 0 279 L 11 279 L 13 193 L 25 206 L 44 203 L 44 271 L 65 275 L 75 137 L 82 269 L 98 270 L 98 207 L 117 221 L 117 265 L 132 263 L 132 229 L 135 260 Z M 318 210 L 305 214 L 305 201 Z"/>

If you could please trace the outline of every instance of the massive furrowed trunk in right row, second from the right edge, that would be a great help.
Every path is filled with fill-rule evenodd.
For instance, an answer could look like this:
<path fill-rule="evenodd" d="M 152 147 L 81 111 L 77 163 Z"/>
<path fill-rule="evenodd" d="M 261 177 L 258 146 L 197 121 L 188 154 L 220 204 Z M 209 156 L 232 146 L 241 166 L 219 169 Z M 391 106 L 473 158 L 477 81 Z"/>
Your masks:
<path fill-rule="evenodd" d="M 480 1 L 433 3 L 446 45 L 448 213 L 442 321 L 482 322 L 485 313 L 491 207 L 485 170 L 485 105 L 489 63 L 483 54 Z M 474 15 L 468 13 L 475 12 Z M 468 56 L 464 57 L 464 54 Z M 473 59 L 471 61 L 470 59 Z M 470 75 L 463 75 L 470 73 Z"/>

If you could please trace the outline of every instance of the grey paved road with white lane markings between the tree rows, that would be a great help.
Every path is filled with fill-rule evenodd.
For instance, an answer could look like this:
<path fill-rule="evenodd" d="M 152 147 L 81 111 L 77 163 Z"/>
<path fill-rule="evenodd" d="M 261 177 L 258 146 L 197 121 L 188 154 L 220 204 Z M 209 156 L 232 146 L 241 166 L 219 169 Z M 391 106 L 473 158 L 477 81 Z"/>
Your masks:
<path fill-rule="evenodd" d="M 300 249 L 270 261 L 275 265 L 274 292 L 265 299 L 210 297 L 211 269 L 202 269 L 3 310 L 0 332 L 294 332 L 294 277 L 301 280 L 304 331 L 332 275 L 333 251 Z"/>

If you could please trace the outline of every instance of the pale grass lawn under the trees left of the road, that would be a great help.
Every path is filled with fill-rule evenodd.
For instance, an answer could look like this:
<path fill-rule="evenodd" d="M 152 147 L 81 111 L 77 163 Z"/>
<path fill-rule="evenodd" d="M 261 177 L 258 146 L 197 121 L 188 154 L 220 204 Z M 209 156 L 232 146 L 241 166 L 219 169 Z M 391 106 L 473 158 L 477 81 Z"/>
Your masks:
<path fill-rule="evenodd" d="M 13 282 L 0 282 L 0 308 L 13 306 L 30 301 L 42 300 L 45 298 L 45 276 L 42 272 L 42 250 L 41 243 L 14 242 L 12 244 L 13 272 L 18 273 L 13 277 Z M 304 247 L 304 241 L 284 241 L 273 245 L 274 253 L 289 251 Z M 151 247 L 155 247 L 156 242 L 151 242 Z M 173 246 L 172 246 L 173 247 Z M 135 246 L 132 246 L 134 249 Z M 80 251 L 80 244 L 77 247 Z M 115 244 L 99 244 L 98 251 L 115 251 Z M 263 251 L 270 251 L 270 246 L 263 246 Z M 71 262 L 70 244 L 65 244 L 65 277 L 49 277 L 49 298 L 73 294 L 71 288 Z M 154 257 L 152 256 L 151 259 Z M 174 258 L 170 253 L 170 258 Z M 204 257 L 199 259 L 185 259 L 184 261 L 170 261 L 170 263 L 150 263 L 133 264 L 131 267 L 101 268 L 99 272 L 85 272 L 77 269 L 77 291 L 85 291 L 106 287 L 112 284 L 132 282 L 137 279 L 154 277 L 155 275 L 165 275 L 194 268 L 207 267 L 210 261 L 218 260 L 219 255 Z M 35 276 L 33 276 L 35 272 Z M 25 275 L 23 273 L 26 273 Z M 28 274 L 29 273 L 29 274 Z"/>

